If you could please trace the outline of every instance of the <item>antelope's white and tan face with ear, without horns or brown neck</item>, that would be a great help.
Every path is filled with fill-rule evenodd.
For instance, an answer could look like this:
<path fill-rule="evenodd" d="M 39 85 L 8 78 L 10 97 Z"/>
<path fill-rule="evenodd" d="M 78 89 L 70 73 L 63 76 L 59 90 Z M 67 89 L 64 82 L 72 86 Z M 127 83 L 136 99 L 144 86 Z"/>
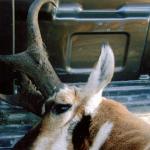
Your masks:
<path fill-rule="evenodd" d="M 113 52 L 108 44 L 104 44 L 88 82 L 81 87 L 59 83 L 53 94 L 42 103 L 41 122 L 17 143 L 15 149 L 27 148 L 27 145 L 35 150 L 84 149 L 83 139 L 80 146 L 76 147 L 74 144 L 78 143 L 76 142 L 78 124 L 88 118 L 85 126 L 90 126 L 89 119 L 97 114 L 102 102 L 102 91 L 110 82 L 113 71 Z M 29 139 L 32 139 L 32 142 Z M 90 142 L 86 148 L 89 147 Z"/>

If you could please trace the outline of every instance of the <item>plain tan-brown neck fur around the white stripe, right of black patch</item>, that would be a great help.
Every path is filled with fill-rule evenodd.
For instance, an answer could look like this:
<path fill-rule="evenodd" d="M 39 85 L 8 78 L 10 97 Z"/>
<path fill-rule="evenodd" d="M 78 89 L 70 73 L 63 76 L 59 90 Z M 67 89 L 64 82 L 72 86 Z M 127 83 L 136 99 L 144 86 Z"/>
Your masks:
<path fill-rule="evenodd" d="M 91 136 L 106 121 L 114 124 L 101 150 L 144 150 L 150 145 L 150 125 L 130 113 L 123 105 L 104 99 L 92 120 Z"/>

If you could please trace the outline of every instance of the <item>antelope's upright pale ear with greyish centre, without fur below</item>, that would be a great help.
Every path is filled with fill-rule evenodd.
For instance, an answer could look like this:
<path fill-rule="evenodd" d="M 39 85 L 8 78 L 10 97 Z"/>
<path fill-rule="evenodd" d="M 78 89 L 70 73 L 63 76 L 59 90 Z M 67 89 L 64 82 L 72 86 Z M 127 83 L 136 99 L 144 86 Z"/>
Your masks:
<path fill-rule="evenodd" d="M 109 44 L 103 44 L 98 62 L 88 78 L 85 92 L 88 92 L 90 95 L 102 92 L 112 79 L 114 66 L 113 51 Z"/>

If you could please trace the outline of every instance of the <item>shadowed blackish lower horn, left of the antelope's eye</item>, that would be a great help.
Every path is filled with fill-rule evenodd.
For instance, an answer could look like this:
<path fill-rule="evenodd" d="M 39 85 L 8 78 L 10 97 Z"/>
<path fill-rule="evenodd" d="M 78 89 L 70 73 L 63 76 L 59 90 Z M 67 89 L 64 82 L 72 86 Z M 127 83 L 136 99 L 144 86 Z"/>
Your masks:
<path fill-rule="evenodd" d="M 0 101 L 5 101 L 15 106 L 21 106 L 29 112 L 42 116 L 45 106 L 44 97 L 37 91 L 36 87 L 25 74 L 19 73 L 18 78 L 21 80 L 20 93 L 13 95 L 0 94 Z"/>

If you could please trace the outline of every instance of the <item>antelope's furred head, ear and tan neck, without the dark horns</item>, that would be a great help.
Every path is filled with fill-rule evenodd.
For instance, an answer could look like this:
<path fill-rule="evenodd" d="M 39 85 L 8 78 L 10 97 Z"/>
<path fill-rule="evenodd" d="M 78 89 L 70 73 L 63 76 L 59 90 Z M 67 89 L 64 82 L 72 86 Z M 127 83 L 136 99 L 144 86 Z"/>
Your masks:
<path fill-rule="evenodd" d="M 113 51 L 104 45 L 85 87 L 64 85 L 59 89 L 44 105 L 53 107 L 45 107 L 41 123 L 14 149 L 149 150 L 150 125 L 122 104 L 101 96 L 113 71 Z M 70 107 L 55 107 L 62 104 Z"/>

